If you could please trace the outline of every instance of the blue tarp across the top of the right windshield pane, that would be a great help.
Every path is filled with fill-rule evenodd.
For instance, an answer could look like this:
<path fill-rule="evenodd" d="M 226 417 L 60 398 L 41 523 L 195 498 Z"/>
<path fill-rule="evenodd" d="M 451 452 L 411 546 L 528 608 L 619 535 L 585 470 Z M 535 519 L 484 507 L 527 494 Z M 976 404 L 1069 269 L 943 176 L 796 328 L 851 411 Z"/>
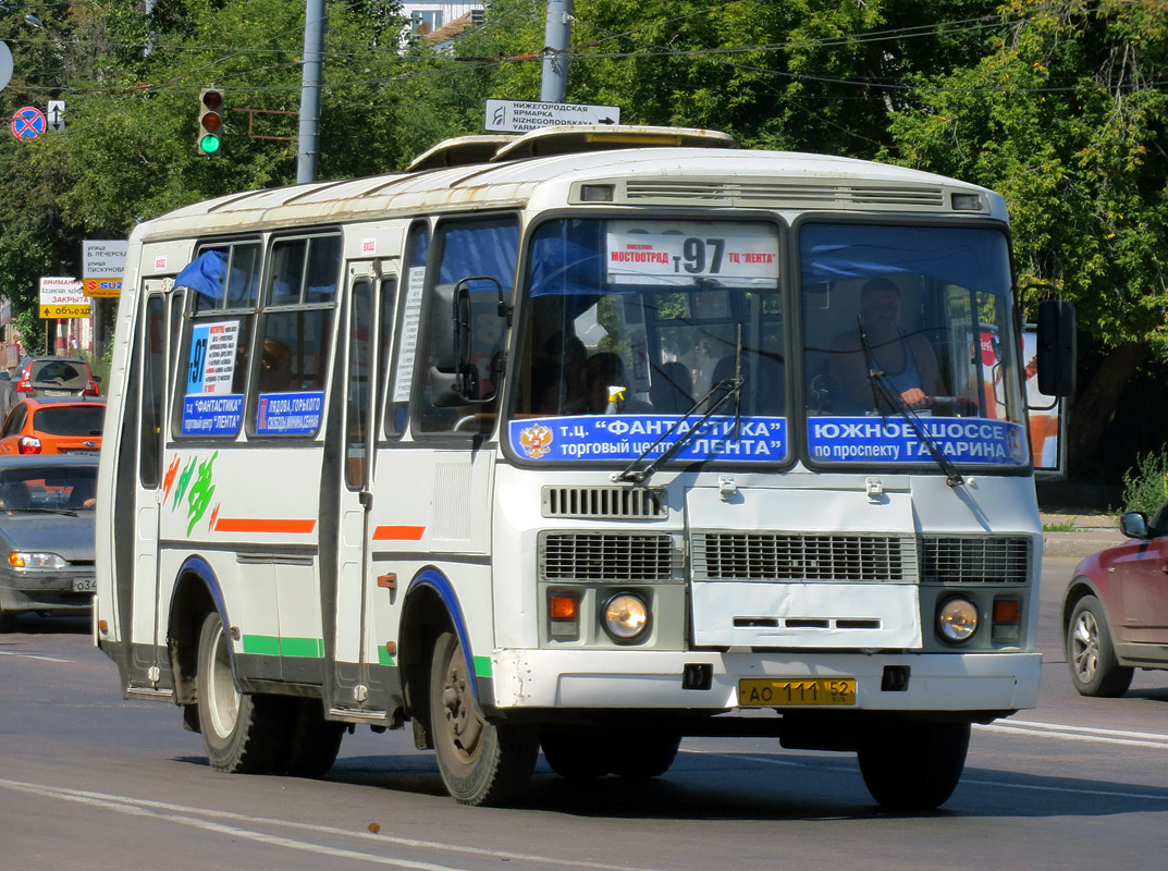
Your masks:
<path fill-rule="evenodd" d="M 951 227 L 804 224 L 804 287 L 876 276 L 924 276 L 987 293 L 1010 287 L 1006 236 Z"/>

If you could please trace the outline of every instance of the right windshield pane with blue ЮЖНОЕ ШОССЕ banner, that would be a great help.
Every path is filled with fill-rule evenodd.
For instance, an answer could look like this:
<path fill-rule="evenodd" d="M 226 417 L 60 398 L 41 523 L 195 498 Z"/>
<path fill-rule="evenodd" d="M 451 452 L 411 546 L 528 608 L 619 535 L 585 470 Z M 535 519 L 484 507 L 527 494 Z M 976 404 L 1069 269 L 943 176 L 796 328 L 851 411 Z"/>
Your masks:
<path fill-rule="evenodd" d="M 1024 466 L 1006 236 L 847 223 L 798 232 L 809 459 L 930 464 L 931 439 L 954 464 Z"/>

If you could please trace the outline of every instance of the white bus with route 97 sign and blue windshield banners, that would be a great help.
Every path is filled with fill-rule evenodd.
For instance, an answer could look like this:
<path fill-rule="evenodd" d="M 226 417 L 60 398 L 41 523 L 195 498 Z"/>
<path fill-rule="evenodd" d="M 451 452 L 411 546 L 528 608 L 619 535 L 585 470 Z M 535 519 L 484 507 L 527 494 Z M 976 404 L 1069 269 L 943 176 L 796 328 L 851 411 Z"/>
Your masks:
<path fill-rule="evenodd" d="M 989 190 L 712 132 L 470 137 L 144 223 L 123 286 L 95 636 L 216 769 L 320 775 L 409 723 L 481 804 L 541 747 L 645 778 L 774 737 L 934 807 L 971 724 L 1037 703 Z M 1040 321 L 1066 393 L 1073 312 Z"/>

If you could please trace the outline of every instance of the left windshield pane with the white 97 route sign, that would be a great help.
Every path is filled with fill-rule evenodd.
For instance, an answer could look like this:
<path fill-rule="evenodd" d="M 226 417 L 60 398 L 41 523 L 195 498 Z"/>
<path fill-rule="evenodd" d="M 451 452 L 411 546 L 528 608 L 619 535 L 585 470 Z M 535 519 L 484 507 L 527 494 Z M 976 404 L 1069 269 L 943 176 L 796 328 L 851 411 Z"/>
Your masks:
<path fill-rule="evenodd" d="M 541 461 L 652 460 L 680 439 L 675 461 L 784 460 L 780 266 L 767 222 L 542 224 L 529 246 L 512 448 Z M 732 400 L 686 417 L 719 384 Z"/>

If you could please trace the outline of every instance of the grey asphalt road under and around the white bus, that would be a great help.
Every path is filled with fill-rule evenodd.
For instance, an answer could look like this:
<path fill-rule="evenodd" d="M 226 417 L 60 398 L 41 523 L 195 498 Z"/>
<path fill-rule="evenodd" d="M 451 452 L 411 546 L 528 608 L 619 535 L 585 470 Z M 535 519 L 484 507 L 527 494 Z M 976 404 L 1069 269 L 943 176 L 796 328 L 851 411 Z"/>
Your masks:
<path fill-rule="evenodd" d="M 647 782 L 541 761 L 509 809 L 456 804 L 408 730 L 359 730 L 320 781 L 216 774 L 178 709 L 120 698 L 84 621 L 25 620 L 0 635 L 0 869 L 1163 867 L 1168 673 L 1075 692 L 1055 614 L 1076 560 L 1045 560 L 1040 706 L 975 727 L 953 797 L 911 815 L 854 755 L 770 740 L 689 739 Z"/>

